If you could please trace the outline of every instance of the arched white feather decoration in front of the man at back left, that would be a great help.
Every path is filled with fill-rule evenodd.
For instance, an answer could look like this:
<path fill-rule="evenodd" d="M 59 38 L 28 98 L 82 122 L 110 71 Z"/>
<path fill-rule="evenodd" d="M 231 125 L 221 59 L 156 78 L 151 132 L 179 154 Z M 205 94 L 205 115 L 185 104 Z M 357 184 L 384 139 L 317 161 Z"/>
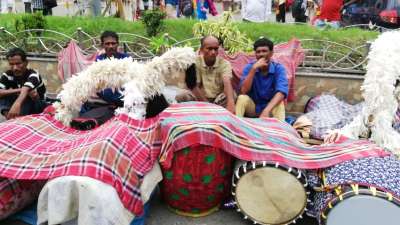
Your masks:
<path fill-rule="evenodd" d="M 187 69 L 195 62 L 195 56 L 192 48 L 185 47 L 172 48 L 147 63 L 132 58 L 96 62 L 63 85 L 59 94 L 61 103 L 53 104 L 55 118 L 69 125 L 90 96 L 105 88 L 123 87 L 124 107 L 117 109 L 117 113 L 142 119 L 146 114 L 146 99 L 160 94 L 166 78 Z"/>

